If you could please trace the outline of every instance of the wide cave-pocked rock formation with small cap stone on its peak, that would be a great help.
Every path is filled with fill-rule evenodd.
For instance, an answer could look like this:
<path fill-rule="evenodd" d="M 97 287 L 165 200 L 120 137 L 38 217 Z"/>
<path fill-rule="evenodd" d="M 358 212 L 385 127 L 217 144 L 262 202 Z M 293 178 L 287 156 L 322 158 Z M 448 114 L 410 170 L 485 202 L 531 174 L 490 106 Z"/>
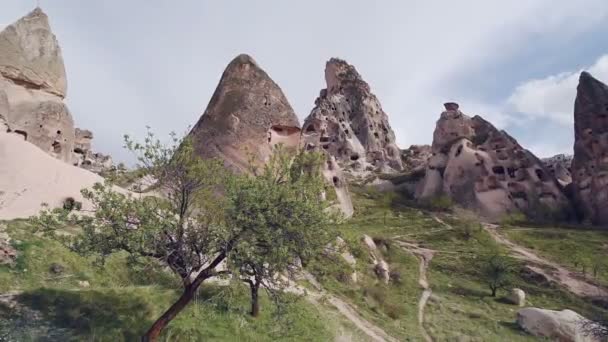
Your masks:
<path fill-rule="evenodd" d="M 538 158 L 480 116 L 463 114 L 456 103 L 445 104 L 432 151 L 417 189 L 420 199 L 447 195 L 490 219 L 514 211 L 569 213 L 561 186 Z"/>

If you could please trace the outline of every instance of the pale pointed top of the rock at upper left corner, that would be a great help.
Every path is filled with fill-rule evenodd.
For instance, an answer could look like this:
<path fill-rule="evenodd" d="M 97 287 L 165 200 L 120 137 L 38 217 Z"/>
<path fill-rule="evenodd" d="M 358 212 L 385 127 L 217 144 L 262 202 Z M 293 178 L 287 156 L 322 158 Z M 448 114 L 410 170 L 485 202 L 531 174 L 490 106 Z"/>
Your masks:
<path fill-rule="evenodd" d="M 66 96 L 61 48 L 40 7 L 0 32 L 0 76 L 28 88 Z"/>

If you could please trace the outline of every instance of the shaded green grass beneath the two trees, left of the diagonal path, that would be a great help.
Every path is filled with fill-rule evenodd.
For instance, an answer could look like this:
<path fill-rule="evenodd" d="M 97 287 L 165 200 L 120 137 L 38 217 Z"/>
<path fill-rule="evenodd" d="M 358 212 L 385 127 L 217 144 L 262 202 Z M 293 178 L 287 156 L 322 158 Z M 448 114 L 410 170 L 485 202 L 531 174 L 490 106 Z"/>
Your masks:
<path fill-rule="evenodd" d="M 153 265 L 127 267 L 116 255 L 104 268 L 63 248 L 57 242 L 31 234 L 24 222 L 9 224 L 9 235 L 20 242 L 15 267 L 0 266 L 0 293 L 18 291 L 20 309 L 0 304 L 0 339 L 10 330 L 15 340 L 137 340 L 178 295 L 178 284 Z M 64 267 L 60 275 L 49 271 L 53 263 Z M 88 281 L 89 288 L 78 286 Z M 330 340 L 334 330 L 329 314 L 320 313 L 305 300 L 290 305 L 277 323 L 271 303 L 264 297 L 262 316 L 248 316 L 248 292 L 241 286 L 219 289 L 205 286 L 195 303 L 169 326 L 164 340 L 172 341 L 275 341 Z M 228 304 L 231 305 L 228 305 Z M 228 308 L 230 307 L 230 308 Z M 337 324 L 337 323 L 336 323 Z M 283 328 L 281 328 L 283 327 Z"/>

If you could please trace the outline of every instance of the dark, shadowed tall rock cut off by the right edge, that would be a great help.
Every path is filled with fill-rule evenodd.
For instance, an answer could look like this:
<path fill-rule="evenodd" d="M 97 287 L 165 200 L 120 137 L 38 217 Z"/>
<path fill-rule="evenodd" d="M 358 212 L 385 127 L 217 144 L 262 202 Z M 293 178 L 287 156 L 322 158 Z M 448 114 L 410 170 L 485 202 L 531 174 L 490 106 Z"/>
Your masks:
<path fill-rule="evenodd" d="M 587 72 L 574 104 L 572 179 L 582 217 L 608 224 L 608 87 Z"/>

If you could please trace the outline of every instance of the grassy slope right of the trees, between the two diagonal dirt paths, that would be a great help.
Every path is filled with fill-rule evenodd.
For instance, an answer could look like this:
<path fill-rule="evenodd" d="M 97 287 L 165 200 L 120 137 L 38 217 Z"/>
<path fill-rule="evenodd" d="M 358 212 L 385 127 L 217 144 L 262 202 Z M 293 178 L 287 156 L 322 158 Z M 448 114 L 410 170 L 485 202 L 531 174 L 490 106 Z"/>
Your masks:
<path fill-rule="evenodd" d="M 388 241 L 392 247 L 385 257 L 392 268 L 399 269 L 402 280 L 388 287 L 378 285 L 377 281 L 373 281 L 373 273 L 363 269 L 367 277 L 362 284 L 353 286 L 341 283 L 337 280 L 341 278 L 338 275 L 324 277 L 322 281 L 326 287 L 350 298 L 364 316 L 400 340 L 421 340 L 416 323 L 417 301 L 421 293 L 417 284 L 418 263 L 414 257 L 390 244 L 391 239 L 397 236 L 401 240 L 439 251 L 428 273 L 435 296 L 429 302 L 425 315 L 425 327 L 434 338 L 441 341 L 459 338 L 479 341 L 534 340 L 517 328 L 515 318 L 518 308 L 500 298 L 506 294 L 504 291 L 499 293 L 499 298 L 489 296 L 478 266 L 484 256 L 504 250 L 478 224 L 436 214 L 454 227 L 446 229 L 431 214 L 405 207 L 394 195 L 361 189 L 353 192 L 357 215 L 340 227 L 342 235 L 348 238 L 356 256 L 360 248 L 358 241 L 363 234 Z M 363 263 L 360 259 L 359 264 Z M 516 268 L 521 266 L 518 264 Z M 512 286 L 522 288 L 527 293 L 528 305 L 559 310 L 570 308 L 589 317 L 606 314 L 606 311 L 559 288 L 525 281 L 518 272 L 513 278 Z M 383 293 L 378 294 L 380 291 Z M 391 305 L 379 305 L 378 301 Z M 392 313 L 393 304 L 400 305 L 398 315 Z"/>

